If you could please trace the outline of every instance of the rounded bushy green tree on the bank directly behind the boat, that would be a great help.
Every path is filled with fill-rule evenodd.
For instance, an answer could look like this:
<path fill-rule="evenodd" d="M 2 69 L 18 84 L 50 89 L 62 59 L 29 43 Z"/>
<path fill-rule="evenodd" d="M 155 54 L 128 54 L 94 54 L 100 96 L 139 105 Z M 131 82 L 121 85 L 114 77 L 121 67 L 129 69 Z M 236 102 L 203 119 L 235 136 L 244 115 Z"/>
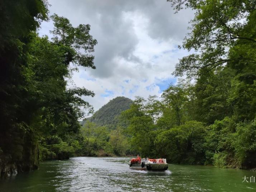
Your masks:
<path fill-rule="evenodd" d="M 188 121 L 157 135 L 158 153 L 171 162 L 204 163 L 205 127 L 198 121 Z"/>

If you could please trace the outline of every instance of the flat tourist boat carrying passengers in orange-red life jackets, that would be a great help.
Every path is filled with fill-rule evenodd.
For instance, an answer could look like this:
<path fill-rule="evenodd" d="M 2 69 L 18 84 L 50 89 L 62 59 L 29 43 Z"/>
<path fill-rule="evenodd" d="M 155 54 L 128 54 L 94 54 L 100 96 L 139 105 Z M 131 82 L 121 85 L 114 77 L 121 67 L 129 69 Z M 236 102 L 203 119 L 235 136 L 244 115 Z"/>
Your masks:
<path fill-rule="evenodd" d="M 166 159 L 148 159 L 137 156 L 137 158 L 132 158 L 129 161 L 129 167 L 136 170 L 145 171 L 166 171 L 168 169 L 168 164 Z"/>

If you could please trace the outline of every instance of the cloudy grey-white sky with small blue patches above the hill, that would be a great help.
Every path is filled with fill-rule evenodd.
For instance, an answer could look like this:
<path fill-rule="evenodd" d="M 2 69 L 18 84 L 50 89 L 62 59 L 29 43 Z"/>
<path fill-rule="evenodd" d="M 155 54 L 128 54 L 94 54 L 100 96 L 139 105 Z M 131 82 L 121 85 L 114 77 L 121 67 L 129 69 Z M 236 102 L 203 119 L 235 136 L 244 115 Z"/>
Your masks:
<path fill-rule="evenodd" d="M 93 90 L 84 97 L 95 111 L 117 96 L 134 99 L 160 96 L 177 79 L 171 75 L 178 59 L 188 54 L 178 49 L 188 33 L 191 10 L 174 14 L 166 0 L 49 0 L 50 14 L 68 18 L 76 27 L 90 24 L 97 39 L 96 69 L 79 68 L 72 80 Z M 40 35 L 49 35 L 52 22 L 44 22 Z"/>

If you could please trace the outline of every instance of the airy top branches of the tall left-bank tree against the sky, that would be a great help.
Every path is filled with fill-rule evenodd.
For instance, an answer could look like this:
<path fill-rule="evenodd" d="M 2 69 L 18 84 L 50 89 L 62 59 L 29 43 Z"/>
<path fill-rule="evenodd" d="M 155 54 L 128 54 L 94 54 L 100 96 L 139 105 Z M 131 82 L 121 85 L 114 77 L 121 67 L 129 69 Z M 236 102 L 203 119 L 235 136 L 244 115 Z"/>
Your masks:
<path fill-rule="evenodd" d="M 53 42 L 66 47 L 66 64 L 70 62 L 83 67 L 96 69 L 93 60 L 94 56 L 87 54 L 94 51 L 97 40 L 90 35 L 90 25 L 80 24 L 74 28 L 67 18 L 56 14 L 51 16 L 54 22 L 54 29 L 51 33 L 54 35 Z"/>

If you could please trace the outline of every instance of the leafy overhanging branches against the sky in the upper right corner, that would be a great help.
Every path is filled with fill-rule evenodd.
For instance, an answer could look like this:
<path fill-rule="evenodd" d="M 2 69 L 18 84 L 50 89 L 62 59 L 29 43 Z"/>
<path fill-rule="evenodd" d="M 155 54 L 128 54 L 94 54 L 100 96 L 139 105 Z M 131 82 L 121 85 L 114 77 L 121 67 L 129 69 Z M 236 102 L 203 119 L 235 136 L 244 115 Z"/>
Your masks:
<path fill-rule="evenodd" d="M 176 11 L 183 8 L 195 10 L 191 32 L 185 38 L 183 47 L 189 51 L 194 49 L 196 53 L 180 59 L 175 75 L 186 73 L 193 77 L 198 75 L 199 69 L 209 72 L 217 66 L 231 62 L 255 63 L 254 58 L 246 54 L 230 57 L 227 51 L 238 40 L 248 46 L 256 44 L 255 33 L 251 33 L 255 31 L 255 25 L 251 24 L 256 14 L 254 1 L 167 1 L 171 2 Z"/>

